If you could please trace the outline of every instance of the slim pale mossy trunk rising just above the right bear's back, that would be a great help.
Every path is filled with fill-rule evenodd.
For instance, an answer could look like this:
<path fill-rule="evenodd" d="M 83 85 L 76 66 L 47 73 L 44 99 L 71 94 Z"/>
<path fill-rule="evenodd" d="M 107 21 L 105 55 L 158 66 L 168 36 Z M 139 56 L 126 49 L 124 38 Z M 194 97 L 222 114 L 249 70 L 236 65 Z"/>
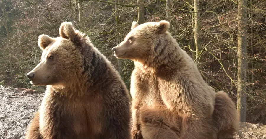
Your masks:
<path fill-rule="evenodd" d="M 201 38 L 200 38 L 200 0 L 194 0 L 194 40 L 196 46 L 196 63 L 201 61 Z"/>

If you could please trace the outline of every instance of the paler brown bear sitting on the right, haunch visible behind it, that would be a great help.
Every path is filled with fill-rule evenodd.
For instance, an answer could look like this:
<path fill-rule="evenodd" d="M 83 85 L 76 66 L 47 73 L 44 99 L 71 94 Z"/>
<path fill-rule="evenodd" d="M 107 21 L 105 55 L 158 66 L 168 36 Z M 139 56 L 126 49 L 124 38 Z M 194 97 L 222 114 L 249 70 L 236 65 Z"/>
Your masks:
<path fill-rule="evenodd" d="M 168 32 L 169 22 L 132 23 L 114 56 L 134 61 L 134 139 L 231 139 L 238 115 L 231 98 L 215 93 L 192 58 Z"/>

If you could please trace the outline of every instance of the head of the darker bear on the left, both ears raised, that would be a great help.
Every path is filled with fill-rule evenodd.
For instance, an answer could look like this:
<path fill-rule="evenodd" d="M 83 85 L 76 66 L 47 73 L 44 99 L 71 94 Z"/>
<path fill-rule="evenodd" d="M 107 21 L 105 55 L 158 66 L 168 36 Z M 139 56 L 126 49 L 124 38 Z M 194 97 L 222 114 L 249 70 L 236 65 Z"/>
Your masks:
<path fill-rule="evenodd" d="M 71 22 L 63 22 L 60 37 L 40 35 L 38 46 L 43 50 L 40 63 L 27 74 L 33 85 L 65 85 L 78 78 L 82 65 L 80 44 L 83 36 Z"/>

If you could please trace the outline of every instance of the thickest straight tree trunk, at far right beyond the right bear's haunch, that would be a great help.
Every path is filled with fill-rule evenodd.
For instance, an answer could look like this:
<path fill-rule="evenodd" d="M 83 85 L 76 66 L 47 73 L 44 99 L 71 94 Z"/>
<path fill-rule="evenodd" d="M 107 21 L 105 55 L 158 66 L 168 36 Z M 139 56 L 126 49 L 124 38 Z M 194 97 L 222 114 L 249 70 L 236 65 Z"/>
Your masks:
<path fill-rule="evenodd" d="M 247 1 L 238 1 L 238 85 L 237 112 L 241 122 L 246 121 L 246 70 L 247 70 Z"/>

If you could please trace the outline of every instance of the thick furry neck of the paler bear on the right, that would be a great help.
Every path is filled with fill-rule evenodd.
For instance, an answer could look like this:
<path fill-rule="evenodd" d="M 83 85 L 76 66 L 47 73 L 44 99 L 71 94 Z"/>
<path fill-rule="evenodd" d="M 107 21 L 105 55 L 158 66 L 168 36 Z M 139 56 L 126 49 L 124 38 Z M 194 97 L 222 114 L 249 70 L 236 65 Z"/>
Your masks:
<path fill-rule="evenodd" d="M 184 51 L 179 47 L 176 40 L 168 38 L 164 45 L 155 46 L 155 56 L 147 58 L 146 61 L 134 61 L 135 66 L 143 72 L 150 74 L 169 74 L 180 68 L 186 61 Z"/>

